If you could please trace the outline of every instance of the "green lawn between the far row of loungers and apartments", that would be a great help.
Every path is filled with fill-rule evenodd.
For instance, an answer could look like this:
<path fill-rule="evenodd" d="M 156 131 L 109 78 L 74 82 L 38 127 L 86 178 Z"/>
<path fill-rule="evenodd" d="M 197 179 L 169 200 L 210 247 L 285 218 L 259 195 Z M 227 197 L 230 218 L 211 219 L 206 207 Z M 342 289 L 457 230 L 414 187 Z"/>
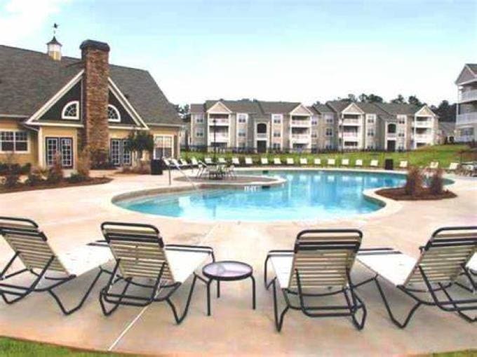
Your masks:
<path fill-rule="evenodd" d="M 394 166 L 398 166 L 400 160 L 408 160 L 410 166 L 429 166 L 429 163 L 433 160 L 439 161 L 439 166 L 441 168 L 449 167 L 449 163 L 452 161 L 459 162 L 461 155 L 459 151 L 469 149 L 466 145 L 436 145 L 433 147 L 422 147 L 415 151 L 407 152 L 349 152 L 344 154 L 217 154 L 217 157 L 224 157 L 227 160 L 230 160 L 232 156 L 237 156 L 241 159 L 243 163 L 243 158 L 245 156 L 250 156 L 253 158 L 254 163 L 260 163 L 260 157 L 267 156 L 269 161 L 272 162 L 274 157 L 280 157 L 282 163 L 285 162 L 287 157 L 293 157 L 295 163 L 298 162 L 298 158 L 307 157 L 309 164 L 313 163 L 314 158 L 321 158 L 322 163 L 325 163 L 325 160 L 328 158 L 337 159 L 337 165 L 340 164 L 342 158 L 350 159 L 350 165 L 354 166 L 354 161 L 356 159 L 363 159 L 363 165 L 369 166 L 369 163 L 372 159 L 379 160 L 379 166 L 384 166 L 384 159 L 394 159 Z M 202 152 L 192 152 L 192 151 L 182 151 L 182 157 L 186 160 L 189 160 L 192 157 L 196 159 L 203 160 L 204 156 L 213 156 L 213 153 L 202 153 Z M 464 161 L 469 160 L 469 157 L 465 158 Z"/>

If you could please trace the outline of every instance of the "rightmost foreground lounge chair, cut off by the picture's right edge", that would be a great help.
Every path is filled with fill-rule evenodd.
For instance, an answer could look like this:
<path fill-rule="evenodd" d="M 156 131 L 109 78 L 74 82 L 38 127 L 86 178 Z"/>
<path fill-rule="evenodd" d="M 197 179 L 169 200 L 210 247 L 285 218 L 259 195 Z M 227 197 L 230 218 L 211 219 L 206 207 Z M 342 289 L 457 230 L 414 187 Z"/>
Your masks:
<path fill-rule="evenodd" d="M 448 288 L 465 269 L 477 249 L 476 227 L 445 227 L 434 231 L 429 241 L 421 248 L 417 260 L 392 248 L 363 249 L 358 252 L 358 261 L 368 267 L 375 276 L 356 284 L 356 287 L 374 281 L 381 295 L 389 318 L 399 328 L 405 328 L 421 305 L 435 306 L 443 311 L 457 312 L 466 321 L 477 321 L 469 312 L 477 312 L 477 297 L 455 299 Z M 382 278 L 415 300 L 403 322 L 391 311 L 388 299 L 379 283 Z M 459 286 L 459 285 L 457 285 Z M 428 299 L 425 299 L 427 295 Z"/>

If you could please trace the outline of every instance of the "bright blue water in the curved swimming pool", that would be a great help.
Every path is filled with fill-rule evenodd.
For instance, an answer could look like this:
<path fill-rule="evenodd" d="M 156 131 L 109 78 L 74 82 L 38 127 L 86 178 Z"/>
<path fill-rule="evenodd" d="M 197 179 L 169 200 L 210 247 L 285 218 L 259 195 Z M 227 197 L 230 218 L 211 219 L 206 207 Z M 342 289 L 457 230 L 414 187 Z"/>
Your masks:
<path fill-rule="evenodd" d="M 329 220 L 378 210 L 381 206 L 365 199 L 363 190 L 405 183 L 403 175 L 384 173 L 298 170 L 270 171 L 269 175 L 278 175 L 287 182 L 257 191 L 187 191 L 116 204 L 142 213 L 188 220 Z"/>

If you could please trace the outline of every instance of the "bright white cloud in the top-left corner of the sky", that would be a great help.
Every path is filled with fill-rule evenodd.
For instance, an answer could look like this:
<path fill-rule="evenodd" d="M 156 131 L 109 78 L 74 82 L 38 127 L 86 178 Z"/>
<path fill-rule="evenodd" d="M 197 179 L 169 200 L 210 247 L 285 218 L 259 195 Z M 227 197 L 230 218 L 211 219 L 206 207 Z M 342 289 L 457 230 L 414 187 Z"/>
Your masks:
<path fill-rule="evenodd" d="M 41 29 L 69 0 L 10 0 L 0 7 L 0 43 L 15 44 Z"/>

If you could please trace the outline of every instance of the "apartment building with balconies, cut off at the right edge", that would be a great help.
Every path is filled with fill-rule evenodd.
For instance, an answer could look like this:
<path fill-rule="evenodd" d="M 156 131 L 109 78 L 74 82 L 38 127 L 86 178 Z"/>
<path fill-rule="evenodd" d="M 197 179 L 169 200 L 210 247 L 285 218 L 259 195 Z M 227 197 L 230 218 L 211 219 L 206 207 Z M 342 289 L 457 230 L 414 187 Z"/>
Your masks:
<path fill-rule="evenodd" d="M 468 63 L 457 80 L 457 142 L 477 140 L 477 64 Z"/>

